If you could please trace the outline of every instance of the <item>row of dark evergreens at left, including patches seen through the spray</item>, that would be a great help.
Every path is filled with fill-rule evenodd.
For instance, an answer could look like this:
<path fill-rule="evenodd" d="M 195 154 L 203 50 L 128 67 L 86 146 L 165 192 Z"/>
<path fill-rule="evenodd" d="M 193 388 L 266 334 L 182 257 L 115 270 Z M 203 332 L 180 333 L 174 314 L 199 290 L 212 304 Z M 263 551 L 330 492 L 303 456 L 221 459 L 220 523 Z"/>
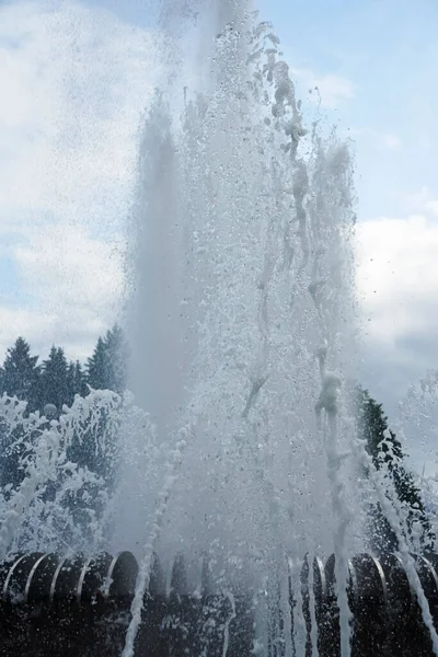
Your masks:
<path fill-rule="evenodd" d="M 25 415 L 39 412 L 49 418 L 54 415 L 59 417 L 65 405 L 71 406 L 77 394 L 85 397 L 90 389 L 111 390 L 123 394 L 126 389 L 127 361 L 127 342 L 118 325 L 114 325 L 104 336 L 99 337 L 84 365 L 78 360 L 69 361 L 65 349 L 56 345 L 51 346 L 48 357 L 39 361 L 39 357 L 32 354 L 31 346 L 24 337 L 19 337 L 7 350 L 0 368 L 0 396 L 7 394 L 26 402 Z M 56 407 L 55 413 L 50 415 L 47 413 L 48 404 Z M 117 446 L 108 445 L 105 451 L 100 447 L 105 435 L 106 422 L 107 417 L 102 412 L 97 425 L 90 427 L 85 439 L 81 439 L 74 431 L 67 447 L 67 460 L 87 471 L 91 480 L 94 475 L 97 476 L 102 485 L 110 491 L 116 472 L 114 456 Z M 23 442 L 22 438 L 21 425 L 10 431 L 0 417 L 0 489 L 5 497 L 26 477 L 28 445 Z M 30 436 L 30 439 L 36 443 L 37 434 Z M 79 491 L 72 489 L 62 498 L 61 505 L 70 509 L 78 526 L 87 528 L 90 509 L 97 515 L 102 512 L 100 487 L 101 484 L 89 481 Z M 42 500 L 50 504 L 60 488 L 60 482 L 47 482 Z"/>

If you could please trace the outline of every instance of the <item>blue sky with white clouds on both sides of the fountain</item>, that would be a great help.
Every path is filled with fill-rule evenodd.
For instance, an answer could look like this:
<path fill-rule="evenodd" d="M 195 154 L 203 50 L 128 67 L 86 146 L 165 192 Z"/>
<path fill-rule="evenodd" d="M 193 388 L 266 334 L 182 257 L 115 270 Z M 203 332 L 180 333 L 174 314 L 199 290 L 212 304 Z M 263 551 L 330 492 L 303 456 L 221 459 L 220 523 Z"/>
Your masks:
<path fill-rule="evenodd" d="M 354 140 L 361 378 L 390 417 L 438 368 L 438 4 L 260 0 L 304 107 Z M 120 311 L 138 127 L 157 81 L 142 0 L 0 3 L 0 359 L 85 359 Z"/>

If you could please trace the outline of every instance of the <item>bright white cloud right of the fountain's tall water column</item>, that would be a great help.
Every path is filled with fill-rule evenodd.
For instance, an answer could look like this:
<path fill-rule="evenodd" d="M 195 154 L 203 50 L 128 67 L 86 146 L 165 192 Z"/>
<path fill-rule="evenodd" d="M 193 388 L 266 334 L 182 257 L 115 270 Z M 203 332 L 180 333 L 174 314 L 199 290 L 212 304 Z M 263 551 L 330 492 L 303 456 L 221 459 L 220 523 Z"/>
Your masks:
<path fill-rule="evenodd" d="M 427 341 L 438 332 L 438 222 L 426 215 L 365 221 L 357 255 L 369 339 L 402 360 L 397 342 Z"/>

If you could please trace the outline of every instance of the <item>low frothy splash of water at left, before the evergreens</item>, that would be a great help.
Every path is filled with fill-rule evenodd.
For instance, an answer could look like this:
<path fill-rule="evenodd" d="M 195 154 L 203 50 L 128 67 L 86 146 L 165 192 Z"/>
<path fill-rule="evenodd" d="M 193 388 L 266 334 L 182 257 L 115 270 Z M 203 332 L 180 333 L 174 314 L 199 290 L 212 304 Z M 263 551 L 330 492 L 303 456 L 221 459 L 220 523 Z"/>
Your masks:
<path fill-rule="evenodd" d="M 77 395 L 51 420 L 1 396 L 0 561 L 21 551 L 94 555 L 118 546 L 124 527 L 115 537 L 113 520 L 126 468 L 132 473 L 139 456 L 138 435 L 148 456 L 143 474 L 154 491 L 160 449 L 149 416 L 129 394 Z"/>

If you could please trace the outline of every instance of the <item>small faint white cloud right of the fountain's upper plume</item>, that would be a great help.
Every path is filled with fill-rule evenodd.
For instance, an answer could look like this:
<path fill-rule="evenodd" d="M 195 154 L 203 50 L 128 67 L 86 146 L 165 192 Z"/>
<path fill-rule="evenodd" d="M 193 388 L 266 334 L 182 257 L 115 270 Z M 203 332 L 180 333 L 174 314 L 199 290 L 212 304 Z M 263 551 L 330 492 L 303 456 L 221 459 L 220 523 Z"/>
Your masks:
<path fill-rule="evenodd" d="M 316 73 L 308 68 L 291 68 L 292 78 L 306 84 L 315 101 L 323 107 L 336 107 L 343 101 L 353 99 L 355 95 L 355 84 L 334 73 Z"/>

